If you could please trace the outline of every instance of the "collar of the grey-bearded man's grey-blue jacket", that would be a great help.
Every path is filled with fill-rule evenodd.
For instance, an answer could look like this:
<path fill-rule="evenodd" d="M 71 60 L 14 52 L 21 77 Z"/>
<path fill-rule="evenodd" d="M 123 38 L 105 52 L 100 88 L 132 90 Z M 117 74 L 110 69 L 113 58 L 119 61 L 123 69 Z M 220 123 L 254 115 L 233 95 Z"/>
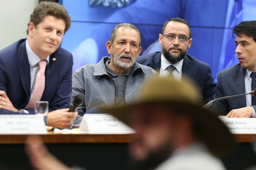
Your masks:
<path fill-rule="evenodd" d="M 93 75 L 94 76 L 100 76 L 100 75 L 108 75 L 107 74 L 107 71 L 106 71 L 106 62 L 110 60 L 110 57 L 106 56 L 106 57 L 103 57 L 94 67 L 94 71 L 93 71 Z M 135 62 L 134 65 L 133 65 L 133 68 L 134 68 L 134 72 L 137 71 L 137 70 L 141 70 L 144 74 L 145 74 L 145 71 L 144 69 L 142 68 L 142 66 Z"/>

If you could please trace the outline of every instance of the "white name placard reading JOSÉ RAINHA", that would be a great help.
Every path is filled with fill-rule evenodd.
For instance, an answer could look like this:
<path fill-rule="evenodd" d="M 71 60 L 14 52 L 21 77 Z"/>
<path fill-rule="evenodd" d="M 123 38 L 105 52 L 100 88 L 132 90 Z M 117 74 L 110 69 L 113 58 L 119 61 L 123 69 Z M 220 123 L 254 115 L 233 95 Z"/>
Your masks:
<path fill-rule="evenodd" d="M 232 133 L 256 133 L 256 118 L 221 118 Z"/>

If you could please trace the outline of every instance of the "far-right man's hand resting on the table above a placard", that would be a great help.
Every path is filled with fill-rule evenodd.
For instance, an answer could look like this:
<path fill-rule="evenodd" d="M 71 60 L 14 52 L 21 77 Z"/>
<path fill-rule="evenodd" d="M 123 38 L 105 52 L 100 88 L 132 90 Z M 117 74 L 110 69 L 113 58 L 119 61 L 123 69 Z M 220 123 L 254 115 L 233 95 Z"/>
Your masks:
<path fill-rule="evenodd" d="M 253 115 L 253 107 L 242 107 L 238 109 L 233 109 L 227 114 L 228 118 L 250 118 Z"/>

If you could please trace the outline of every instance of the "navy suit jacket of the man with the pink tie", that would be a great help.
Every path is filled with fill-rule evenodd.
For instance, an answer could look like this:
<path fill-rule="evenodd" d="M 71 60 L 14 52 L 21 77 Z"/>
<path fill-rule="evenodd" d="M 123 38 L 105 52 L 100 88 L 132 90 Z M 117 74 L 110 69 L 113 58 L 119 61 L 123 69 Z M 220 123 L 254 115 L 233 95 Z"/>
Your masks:
<path fill-rule="evenodd" d="M 0 90 L 6 92 L 14 107 L 23 109 L 30 98 L 30 65 L 26 52 L 26 39 L 0 51 Z M 52 59 L 56 58 L 55 61 Z M 45 88 L 41 101 L 49 101 L 49 112 L 67 108 L 72 92 L 73 56 L 58 48 L 50 55 L 45 68 Z M 33 110 L 29 110 L 34 113 Z M 0 114 L 17 114 L 0 109 Z"/>

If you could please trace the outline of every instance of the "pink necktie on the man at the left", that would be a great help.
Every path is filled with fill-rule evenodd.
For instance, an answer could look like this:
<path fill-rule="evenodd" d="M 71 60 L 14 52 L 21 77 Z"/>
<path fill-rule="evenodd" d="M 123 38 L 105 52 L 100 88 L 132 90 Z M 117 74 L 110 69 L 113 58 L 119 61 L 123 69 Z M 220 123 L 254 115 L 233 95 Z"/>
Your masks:
<path fill-rule="evenodd" d="M 43 60 L 38 63 L 39 70 L 36 75 L 36 83 L 33 95 L 29 101 L 29 103 L 26 105 L 25 109 L 34 109 L 35 108 L 35 101 L 40 101 L 41 97 L 43 95 L 44 91 L 44 84 L 45 84 L 45 67 L 46 67 L 47 61 Z"/>

